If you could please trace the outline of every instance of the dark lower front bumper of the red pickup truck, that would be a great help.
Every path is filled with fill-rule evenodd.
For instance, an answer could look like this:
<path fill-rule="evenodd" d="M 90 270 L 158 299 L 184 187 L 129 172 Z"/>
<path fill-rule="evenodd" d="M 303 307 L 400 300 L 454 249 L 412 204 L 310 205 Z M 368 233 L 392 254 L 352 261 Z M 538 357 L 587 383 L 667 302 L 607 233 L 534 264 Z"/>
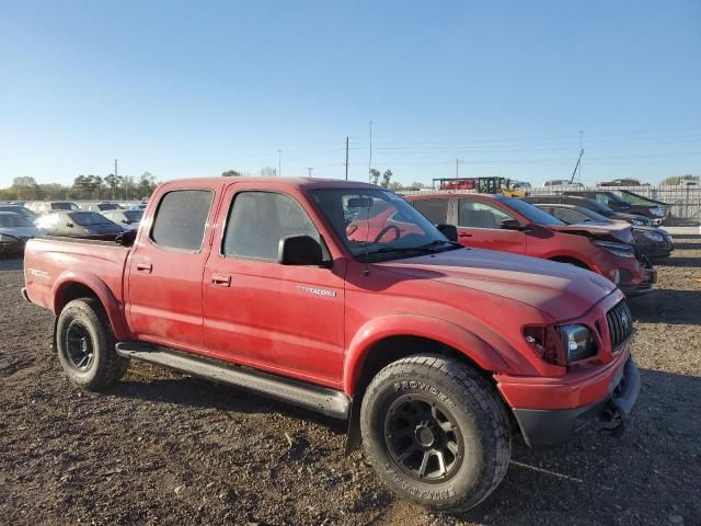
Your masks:
<path fill-rule="evenodd" d="M 598 420 L 613 423 L 611 431 L 621 432 L 637 396 L 640 373 L 628 358 L 609 384 L 608 395 L 593 403 L 573 409 L 518 409 L 514 415 L 529 447 L 550 447 L 567 442 L 583 427 Z"/>

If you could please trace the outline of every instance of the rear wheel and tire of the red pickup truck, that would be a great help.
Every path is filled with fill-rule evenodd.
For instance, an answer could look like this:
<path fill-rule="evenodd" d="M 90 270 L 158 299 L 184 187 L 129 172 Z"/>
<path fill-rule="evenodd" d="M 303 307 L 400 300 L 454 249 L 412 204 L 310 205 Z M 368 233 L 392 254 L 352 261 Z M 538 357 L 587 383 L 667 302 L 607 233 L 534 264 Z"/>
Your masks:
<path fill-rule="evenodd" d="M 58 316 L 58 361 L 76 387 L 97 391 L 124 376 L 129 361 L 117 354 L 115 343 L 110 321 L 96 299 L 74 299 Z"/>

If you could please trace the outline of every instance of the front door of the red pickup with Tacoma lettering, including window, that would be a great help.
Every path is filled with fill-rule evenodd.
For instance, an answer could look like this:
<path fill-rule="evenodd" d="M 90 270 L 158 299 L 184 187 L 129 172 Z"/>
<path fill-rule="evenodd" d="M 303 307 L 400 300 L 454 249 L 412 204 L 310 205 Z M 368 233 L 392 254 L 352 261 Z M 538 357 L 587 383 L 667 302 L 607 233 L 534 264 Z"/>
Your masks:
<path fill-rule="evenodd" d="M 277 261 L 286 236 L 307 235 L 323 244 L 301 202 L 230 186 L 223 235 L 205 268 L 205 342 L 219 358 L 338 387 L 345 260 L 331 268 Z"/>

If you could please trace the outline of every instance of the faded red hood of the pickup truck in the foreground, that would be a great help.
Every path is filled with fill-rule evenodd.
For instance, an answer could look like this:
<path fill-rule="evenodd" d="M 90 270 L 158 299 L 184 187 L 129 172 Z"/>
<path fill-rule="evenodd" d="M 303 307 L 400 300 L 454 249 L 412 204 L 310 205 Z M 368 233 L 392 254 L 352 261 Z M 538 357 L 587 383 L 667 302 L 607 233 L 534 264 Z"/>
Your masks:
<path fill-rule="evenodd" d="M 412 279 L 434 279 L 529 305 L 555 321 L 577 318 L 616 290 L 584 268 L 525 255 L 459 249 L 377 263 Z"/>

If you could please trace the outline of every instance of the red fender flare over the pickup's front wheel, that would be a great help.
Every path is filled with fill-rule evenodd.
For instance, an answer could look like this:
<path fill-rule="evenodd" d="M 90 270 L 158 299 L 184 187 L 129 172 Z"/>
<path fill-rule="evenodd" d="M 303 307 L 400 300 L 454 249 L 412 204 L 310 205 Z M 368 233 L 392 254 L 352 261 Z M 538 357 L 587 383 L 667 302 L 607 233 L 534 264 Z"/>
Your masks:
<path fill-rule="evenodd" d="M 390 315 L 374 318 L 355 334 L 343 361 L 343 390 L 353 397 L 365 359 L 376 343 L 391 336 L 418 336 L 443 343 L 472 359 L 487 371 L 509 366 L 487 342 L 449 321 L 428 316 Z"/>

